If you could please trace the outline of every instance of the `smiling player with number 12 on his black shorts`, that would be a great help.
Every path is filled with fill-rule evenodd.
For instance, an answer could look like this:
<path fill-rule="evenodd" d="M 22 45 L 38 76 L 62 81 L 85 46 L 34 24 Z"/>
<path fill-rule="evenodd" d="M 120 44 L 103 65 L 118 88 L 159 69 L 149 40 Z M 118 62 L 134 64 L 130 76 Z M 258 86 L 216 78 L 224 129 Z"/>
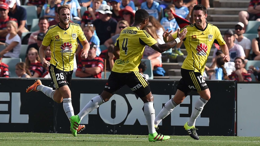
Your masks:
<path fill-rule="evenodd" d="M 190 120 L 185 123 L 184 128 L 192 138 L 198 140 L 199 137 L 196 132 L 195 121 L 210 99 L 210 91 L 202 74 L 214 41 L 217 41 L 222 48 L 224 61 L 230 61 L 230 57 L 226 42 L 222 38 L 220 30 L 216 26 L 206 22 L 207 9 L 203 5 L 195 5 L 193 8 L 193 16 L 195 23 L 183 28 L 188 30 L 186 38 L 183 39 L 188 56 L 185 58 L 181 67 L 182 79 L 180 79 L 177 85 L 176 94 L 164 105 L 163 109 L 156 116 L 154 124 L 157 127 L 158 124 L 194 90 L 198 92 L 201 97 L 195 103 Z M 183 31 L 183 29 L 180 31 Z M 177 37 L 177 34 L 169 36 L 170 33 L 171 32 L 168 31 L 163 33 L 165 42 Z"/>

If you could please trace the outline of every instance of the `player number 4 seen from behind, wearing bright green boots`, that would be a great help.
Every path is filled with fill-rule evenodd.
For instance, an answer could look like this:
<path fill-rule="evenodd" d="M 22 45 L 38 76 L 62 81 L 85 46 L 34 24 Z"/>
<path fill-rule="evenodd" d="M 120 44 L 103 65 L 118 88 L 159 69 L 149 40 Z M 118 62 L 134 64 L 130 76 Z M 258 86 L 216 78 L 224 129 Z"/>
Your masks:
<path fill-rule="evenodd" d="M 75 126 L 75 123 L 79 124 L 85 115 L 108 101 L 122 86 L 127 85 L 144 102 L 144 115 L 149 133 L 148 140 L 162 141 L 170 138 L 170 136 L 162 135 L 155 131 L 153 95 L 147 79 L 139 73 L 138 66 L 141 62 L 145 45 L 151 46 L 154 50 L 162 53 L 184 39 L 187 30 L 183 29 L 182 33 L 178 31 L 178 37 L 175 40 L 160 45 L 145 31 L 148 22 L 149 14 L 147 11 L 139 9 L 135 13 L 133 26 L 128 26 L 121 31 L 113 48 L 113 54 L 118 59 L 115 61 L 103 92 L 101 95 L 92 98 L 78 115 L 70 118 L 71 126 Z M 75 127 L 77 129 L 77 125 Z M 72 132 L 73 135 L 76 133 L 77 130 L 74 130 L 74 133 Z"/>

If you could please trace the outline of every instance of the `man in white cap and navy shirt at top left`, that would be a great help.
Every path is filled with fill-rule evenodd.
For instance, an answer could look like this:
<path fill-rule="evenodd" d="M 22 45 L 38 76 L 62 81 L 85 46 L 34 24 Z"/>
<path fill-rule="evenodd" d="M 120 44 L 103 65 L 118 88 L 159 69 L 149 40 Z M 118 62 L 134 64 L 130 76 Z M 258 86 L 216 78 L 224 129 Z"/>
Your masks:
<path fill-rule="evenodd" d="M 18 33 L 18 35 L 21 36 L 22 33 L 29 32 L 29 30 L 27 30 L 27 26 L 26 26 L 27 12 L 26 12 L 25 8 L 16 5 L 16 0 L 6 0 L 5 2 L 9 6 L 8 16 L 14 17 L 15 19 L 17 19 L 17 22 L 18 22 L 17 33 Z"/>

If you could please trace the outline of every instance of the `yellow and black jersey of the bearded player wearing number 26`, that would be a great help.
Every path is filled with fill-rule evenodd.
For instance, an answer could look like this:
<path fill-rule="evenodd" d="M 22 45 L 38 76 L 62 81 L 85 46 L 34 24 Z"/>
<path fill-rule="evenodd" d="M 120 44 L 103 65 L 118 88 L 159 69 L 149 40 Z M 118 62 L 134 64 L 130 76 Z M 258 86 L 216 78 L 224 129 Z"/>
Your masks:
<path fill-rule="evenodd" d="M 79 24 L 69 23 L 64 30 L 59 24 L 50 26 L 47 30 L 42 45 L 50 45 L 52 57 L 50 63 L 63 71 L 73 70 L 73 59 L 78 47 L 77 38 L 85 41 L 86 37 Z"/>

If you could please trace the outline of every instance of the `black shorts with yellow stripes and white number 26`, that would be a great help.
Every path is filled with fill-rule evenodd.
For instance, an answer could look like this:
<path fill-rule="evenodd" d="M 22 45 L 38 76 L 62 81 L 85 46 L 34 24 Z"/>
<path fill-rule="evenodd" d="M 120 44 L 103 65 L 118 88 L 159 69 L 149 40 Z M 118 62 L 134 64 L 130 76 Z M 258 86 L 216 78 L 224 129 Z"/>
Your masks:
<path fill-rule="evenodd" d="M 53 81 L 53 90 L 59 89 L 60 87 L 65 85 L 68 85 L 70 87 L 73 70 L 62 71 L 51 64 L 49 66 L 49 72 Z"/>

